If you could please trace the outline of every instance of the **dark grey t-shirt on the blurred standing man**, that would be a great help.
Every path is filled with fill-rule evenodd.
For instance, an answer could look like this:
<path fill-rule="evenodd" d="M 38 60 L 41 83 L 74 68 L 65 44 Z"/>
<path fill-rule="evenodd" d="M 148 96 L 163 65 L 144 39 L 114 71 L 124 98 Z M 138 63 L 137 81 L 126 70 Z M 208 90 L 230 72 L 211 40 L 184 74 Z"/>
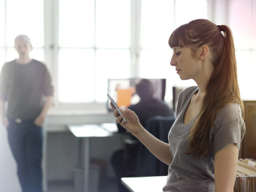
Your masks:
<path fill-rule="evenodd" d="M 44 97 L 53 95 L 46 66 L 32 59 L 26 65 L 15 60 L 4 64 L 0 76 L 0 99 L 8 102 L 7 118 L 34 119 L 41 113 Z"/>

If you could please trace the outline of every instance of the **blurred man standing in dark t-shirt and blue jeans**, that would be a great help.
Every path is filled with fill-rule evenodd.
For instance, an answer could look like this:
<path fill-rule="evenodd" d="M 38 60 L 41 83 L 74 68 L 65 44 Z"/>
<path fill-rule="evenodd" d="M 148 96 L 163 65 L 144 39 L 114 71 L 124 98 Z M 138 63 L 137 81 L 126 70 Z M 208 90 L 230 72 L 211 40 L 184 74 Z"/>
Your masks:
<path fill-rule="evenodd" d="M 29 37 L 18 35 L 14 43 L 19 58 L 2 68 L 0 115 L 17 163 L 22 191 L 42 192 L 42 125 L 51 106 L 53 86 L 46 66 L 29 57 L 32 50 Z"/>

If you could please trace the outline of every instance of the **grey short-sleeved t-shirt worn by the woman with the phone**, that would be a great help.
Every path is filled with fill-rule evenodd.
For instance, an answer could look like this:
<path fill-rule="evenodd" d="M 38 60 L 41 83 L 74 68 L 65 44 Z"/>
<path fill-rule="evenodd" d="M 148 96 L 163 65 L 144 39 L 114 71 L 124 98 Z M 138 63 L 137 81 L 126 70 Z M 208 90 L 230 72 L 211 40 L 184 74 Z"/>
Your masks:
<path fill-rule="evenodd" d="M 188 87 L 179 95 L 177 116 L 169 132 L 170 151 L 173 157 L 169 165 L 169 174 L 165 192 L 178 191 L 214 191 L 214 155 L 230 143 L 239 148 L 245 133 L 245 124 L 241 108 L 236 103 L 226 105 L 219 111 L 211 129 L 211 149 L 199 159 L 192 159 L 193 154 L 186 155 L 189 149 L 188 134 L 195 118 L 183 124 L 183 116 L 197 86 Z"/>

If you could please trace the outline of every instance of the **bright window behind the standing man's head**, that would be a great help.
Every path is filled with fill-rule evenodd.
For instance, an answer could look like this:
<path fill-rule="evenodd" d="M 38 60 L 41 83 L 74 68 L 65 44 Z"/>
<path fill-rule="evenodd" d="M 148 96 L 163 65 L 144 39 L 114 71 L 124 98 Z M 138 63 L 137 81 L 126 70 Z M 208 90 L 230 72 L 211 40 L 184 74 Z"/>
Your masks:
<path fill-rule="evenodd" d="M 26 34 L 30 37 L 34 47 L 31 57 L 44 60 L 44 1 L 2 0 L 0 3 L 2 29 L 0 32 L 0 66 L 18 57 L 13 45 L 14 38 L 19 34 Z"/>

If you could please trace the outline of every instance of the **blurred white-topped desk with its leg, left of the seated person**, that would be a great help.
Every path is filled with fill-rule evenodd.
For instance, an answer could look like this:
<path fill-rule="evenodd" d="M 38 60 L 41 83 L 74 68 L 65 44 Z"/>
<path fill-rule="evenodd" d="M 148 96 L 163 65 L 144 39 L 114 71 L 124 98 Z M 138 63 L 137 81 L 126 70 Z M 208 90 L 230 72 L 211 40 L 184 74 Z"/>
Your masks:
<path fill-rule="evenodd" d="M 116 124 L 113 124 L 116 126 Z M 78 163 L 82 164 L 82 157 L 79 151 L 82 150 L 82 140 L 84 141 L 84 192 L 89 192 L 89 171 L 90 171 L 90 139 L 99 137 L 121 137 L 124 134 L 114 133 L 103 129 L 100 125 L 69 125 L 68 129 L 77 137 L 78 143 Z"/>

